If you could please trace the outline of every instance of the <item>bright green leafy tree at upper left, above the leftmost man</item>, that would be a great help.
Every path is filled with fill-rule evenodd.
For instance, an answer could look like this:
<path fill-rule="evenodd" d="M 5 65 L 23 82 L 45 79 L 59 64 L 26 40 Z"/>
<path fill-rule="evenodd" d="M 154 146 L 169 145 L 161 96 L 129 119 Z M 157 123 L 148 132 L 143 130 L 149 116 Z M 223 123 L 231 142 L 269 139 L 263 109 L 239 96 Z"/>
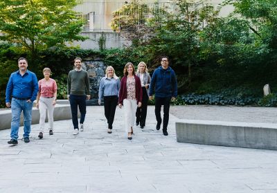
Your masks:
<path fill-rule="evenodd" d="M 23 46 L 32 61 L 38 50 L 84 40 L 78 0 L 0 0 L 0 39 Z"/>

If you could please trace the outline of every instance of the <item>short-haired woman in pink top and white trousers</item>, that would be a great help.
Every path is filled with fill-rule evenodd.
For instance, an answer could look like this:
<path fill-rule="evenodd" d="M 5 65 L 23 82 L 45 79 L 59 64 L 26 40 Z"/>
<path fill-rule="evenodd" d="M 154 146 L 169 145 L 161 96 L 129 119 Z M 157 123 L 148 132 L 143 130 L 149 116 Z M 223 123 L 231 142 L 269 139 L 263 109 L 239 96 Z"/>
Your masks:
<path fill-rule="evenodd" d="M 53 135 L 53 112 L 57 99 L 57 84 L 50 78 L 50 68 L 44 68 L 44 78 L 39 80 L 39 91 L 37 93 L 37 109 L 39 109 L 39 138 L 43 138 L 46 110 L 48 111 L 49 135 Z"/>

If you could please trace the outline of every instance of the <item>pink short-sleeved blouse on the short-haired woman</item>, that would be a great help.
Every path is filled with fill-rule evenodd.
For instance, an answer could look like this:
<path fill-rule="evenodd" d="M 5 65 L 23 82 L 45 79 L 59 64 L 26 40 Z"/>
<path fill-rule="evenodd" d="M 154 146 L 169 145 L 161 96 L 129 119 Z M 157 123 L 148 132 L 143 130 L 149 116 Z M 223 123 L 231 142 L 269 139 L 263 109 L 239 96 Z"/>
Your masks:
<path fill-rule="evenodd" d="M 55 80 L 49 78 L 48 81 L 45 79 L 39 80 L 39 93 L 43 98 L 51 98 L 54 96 L 55 91 L 57 91 L 57 84 Z"/>

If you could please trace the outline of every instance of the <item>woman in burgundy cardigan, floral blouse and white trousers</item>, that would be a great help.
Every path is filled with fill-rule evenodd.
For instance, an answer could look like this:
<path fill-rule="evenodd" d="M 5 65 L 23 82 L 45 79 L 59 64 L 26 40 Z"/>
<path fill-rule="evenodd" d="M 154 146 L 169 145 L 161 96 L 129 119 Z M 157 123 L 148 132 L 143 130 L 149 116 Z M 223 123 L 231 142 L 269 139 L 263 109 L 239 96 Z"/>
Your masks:
<path fill-rule="evenodd" d="M 136 119 L 136 108 L 141 107 L 143 91 L 141 80 L 135 75 L 134 65 L 128 62 L 124 67 L 124 76 L 121 79 L 118 106 L 124 105 L 125 130 L 128 132 L 128 139 L 132 140 L 133 126 Z"/>

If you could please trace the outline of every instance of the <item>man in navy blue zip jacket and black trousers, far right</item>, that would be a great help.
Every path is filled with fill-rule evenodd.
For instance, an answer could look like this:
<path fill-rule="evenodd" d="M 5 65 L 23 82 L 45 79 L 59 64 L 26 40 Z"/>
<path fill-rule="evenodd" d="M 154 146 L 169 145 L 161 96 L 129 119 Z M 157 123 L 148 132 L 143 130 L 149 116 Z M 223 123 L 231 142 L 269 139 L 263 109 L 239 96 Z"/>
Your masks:
<path fill-rule="evenodd" d="M 161 105 L 163 105 L 163 135 L 168 136 L 168 119 L 170 100 L 177 97 L 177 80 L 175 72 L 169 64 L 167 56 L 161 57 L 161 66 L 157 68 L 150 83 L 149 99 L 155 93 L 155 115 L 157 120 L 156 129 L 161 128 Z"/>

